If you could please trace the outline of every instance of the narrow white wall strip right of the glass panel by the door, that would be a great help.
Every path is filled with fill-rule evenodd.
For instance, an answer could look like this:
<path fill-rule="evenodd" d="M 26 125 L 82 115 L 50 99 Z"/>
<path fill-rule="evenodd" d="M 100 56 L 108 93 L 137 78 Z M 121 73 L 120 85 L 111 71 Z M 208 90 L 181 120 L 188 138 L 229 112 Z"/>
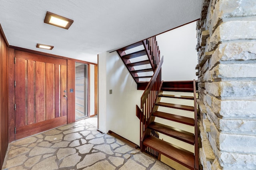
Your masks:
<path fill-rule="evenodd" d="M 90 64 L 90 115 L 94 115 L 94 64 Z"/>

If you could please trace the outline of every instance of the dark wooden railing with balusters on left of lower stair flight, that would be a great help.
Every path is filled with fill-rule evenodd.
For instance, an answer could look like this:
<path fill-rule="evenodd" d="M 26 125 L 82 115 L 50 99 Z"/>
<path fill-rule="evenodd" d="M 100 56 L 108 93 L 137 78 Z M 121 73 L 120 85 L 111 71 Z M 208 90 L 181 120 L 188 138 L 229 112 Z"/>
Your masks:
<path fill-rule="evenodd" d="M 140 107 L 136 105 L 136 116 L 140 119 L 140 146 L 142 146 L 143 138 L 146 135 L 145 129 L 150 123 L 152 111 L 154 109 L 156 99 L 161 88 L 161 67 L 163 59 L 164 57 L 162 57 L 160 60 L 154 75 L 150 79 L 150 82 L 148 83 L 144 93 L 142 94 L 142 97 L 140 98 Z"/>

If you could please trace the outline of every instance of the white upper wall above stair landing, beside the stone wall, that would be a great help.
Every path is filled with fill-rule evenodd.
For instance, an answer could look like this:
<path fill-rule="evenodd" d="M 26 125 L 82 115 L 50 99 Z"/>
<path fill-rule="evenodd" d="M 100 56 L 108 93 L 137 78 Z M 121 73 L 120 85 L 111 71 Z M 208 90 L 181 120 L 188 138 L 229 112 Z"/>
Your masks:
<path fill-rule="evenodd" d="M 156 36 L 161 57 L 162 80 L 197 80 L 196 22 Z"/>

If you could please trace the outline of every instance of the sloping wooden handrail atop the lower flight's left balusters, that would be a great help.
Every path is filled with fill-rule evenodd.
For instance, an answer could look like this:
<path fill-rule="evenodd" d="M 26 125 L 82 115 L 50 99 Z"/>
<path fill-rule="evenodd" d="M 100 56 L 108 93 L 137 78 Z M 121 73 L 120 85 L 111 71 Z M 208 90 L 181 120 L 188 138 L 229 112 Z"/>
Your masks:
<path fill-rule="evenodd" d="M 148 98 L 148 94 L 150 93 L 156 78 L 158 77 L 158 74 L 160 73 L 161 67 L 162 67 L 162 63 L 164 61 L 164 56 L 162 57 L 162 59 L 160 60 L 158 67 L 156 68 L 153 76 L 150 79 L 150 82 L 148 83 L 144 93 L 142 94 L 141 98 L 140 98 L 140 109 L 142 109 L 143 105 L 146 103 L 146 99 Z M 161 82 L 161 80 L 160 80 Z"/>

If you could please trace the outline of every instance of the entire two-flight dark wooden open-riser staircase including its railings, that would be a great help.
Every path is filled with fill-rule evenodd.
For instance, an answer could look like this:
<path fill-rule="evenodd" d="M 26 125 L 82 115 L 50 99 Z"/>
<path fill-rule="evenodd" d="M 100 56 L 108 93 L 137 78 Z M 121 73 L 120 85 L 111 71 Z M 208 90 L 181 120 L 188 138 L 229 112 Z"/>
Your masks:
<path fill-rule="evenodd" d="M 162 81 L 163 57 L 160 59 L 156 37 L 117 52 L 137 83 L 137 89 L 144 90 L 140 107 L 136 106 L 141 151 L 170 166 L 178 164 L 182 170 L 198 170 L 196 81 Z M 182 100 L 190 104 L 183 104 Z"/>

